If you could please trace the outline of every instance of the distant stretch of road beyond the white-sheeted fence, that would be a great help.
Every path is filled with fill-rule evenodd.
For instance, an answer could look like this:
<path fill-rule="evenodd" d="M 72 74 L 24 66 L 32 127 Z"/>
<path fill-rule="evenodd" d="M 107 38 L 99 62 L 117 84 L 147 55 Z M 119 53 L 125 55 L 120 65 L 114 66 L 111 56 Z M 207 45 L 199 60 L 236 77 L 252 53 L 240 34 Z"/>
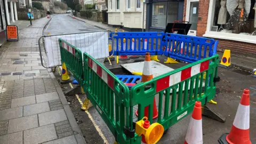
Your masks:
<path fill-rule="evenodd" d="M 44 35 L 50 33 L 51 35 L 57 34 L 74 34 L 83 33 L 86 31 L 100 30 L 85 22 L 73 19 L 70 14 L 54 14 L 51 15 L 51 22 L 44 29 Z"/>

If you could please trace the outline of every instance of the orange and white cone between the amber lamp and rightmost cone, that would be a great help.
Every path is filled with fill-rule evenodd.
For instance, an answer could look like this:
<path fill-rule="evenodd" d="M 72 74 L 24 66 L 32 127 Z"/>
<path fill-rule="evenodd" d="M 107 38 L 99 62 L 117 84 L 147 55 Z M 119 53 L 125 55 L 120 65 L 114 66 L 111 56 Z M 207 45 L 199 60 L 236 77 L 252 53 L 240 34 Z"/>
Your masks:
<path fill-rule="evenodd" d="M 190 143 L 203 143 L 202 107 L 200 101 L 196 101 L 195 103 L 184 142 L 184 144 Z"/>

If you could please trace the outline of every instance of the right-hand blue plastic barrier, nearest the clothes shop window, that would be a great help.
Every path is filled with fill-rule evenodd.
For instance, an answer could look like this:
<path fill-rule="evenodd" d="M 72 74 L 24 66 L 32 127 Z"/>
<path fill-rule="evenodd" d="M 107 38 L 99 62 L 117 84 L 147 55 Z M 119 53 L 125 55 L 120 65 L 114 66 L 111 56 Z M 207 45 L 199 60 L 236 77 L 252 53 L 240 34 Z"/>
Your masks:
<path fill-rule="evenodd" d="M 166 33 L 164 55 L 192 63 L 216 54 L 217 45 L 212 38 Z"/>

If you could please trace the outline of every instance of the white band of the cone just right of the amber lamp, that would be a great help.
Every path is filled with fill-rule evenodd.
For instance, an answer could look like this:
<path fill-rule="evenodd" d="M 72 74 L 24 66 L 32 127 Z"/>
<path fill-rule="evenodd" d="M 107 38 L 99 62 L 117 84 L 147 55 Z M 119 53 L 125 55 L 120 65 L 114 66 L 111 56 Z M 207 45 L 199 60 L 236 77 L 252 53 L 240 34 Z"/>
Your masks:
<path fill-rule="evenodd" d="M 187 135 L 185 138 L 185 143 L 188 144 L 201 144 L 203 143 L 203 128 L 202 128 L 202 119 L 196 120 L 194 118 L 190 119 L 188 126 Z"/>

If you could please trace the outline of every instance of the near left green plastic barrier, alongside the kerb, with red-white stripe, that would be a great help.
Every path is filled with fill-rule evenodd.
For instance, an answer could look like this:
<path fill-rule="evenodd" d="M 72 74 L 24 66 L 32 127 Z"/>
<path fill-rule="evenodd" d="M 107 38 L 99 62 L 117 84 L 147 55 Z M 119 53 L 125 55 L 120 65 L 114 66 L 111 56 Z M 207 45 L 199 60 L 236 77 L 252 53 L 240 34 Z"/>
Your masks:
<path fill-rule="evenodd" d="M 119 143 L 130 143 L 124 134 L 129 123 L 129 88 L 91 55 L 84 53 L 84 90 Z"/>

